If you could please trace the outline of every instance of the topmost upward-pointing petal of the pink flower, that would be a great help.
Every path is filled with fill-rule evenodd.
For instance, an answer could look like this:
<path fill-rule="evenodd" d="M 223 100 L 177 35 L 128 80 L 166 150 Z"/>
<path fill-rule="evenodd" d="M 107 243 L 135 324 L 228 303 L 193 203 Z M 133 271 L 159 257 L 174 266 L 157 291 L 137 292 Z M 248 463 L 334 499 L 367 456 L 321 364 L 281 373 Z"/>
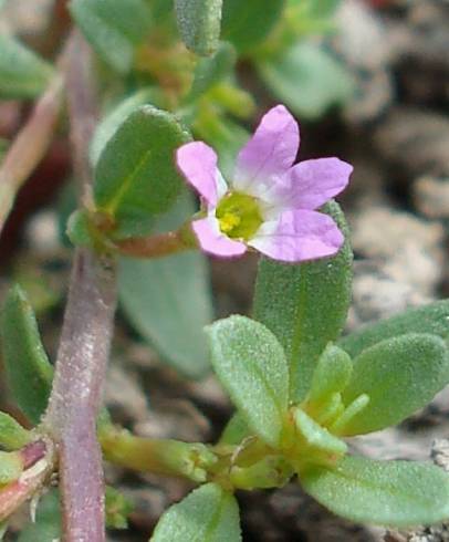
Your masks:
<path fill-rule="evenodd" d="M 273 175 L 284 174 L 294 163 L 299 146 L 296 121 L 283 105 L 273 107 L 262 117 L 254 135 L 240 150 L 233 187 L 248 191 L 253 184 L 267 184 Z"/>

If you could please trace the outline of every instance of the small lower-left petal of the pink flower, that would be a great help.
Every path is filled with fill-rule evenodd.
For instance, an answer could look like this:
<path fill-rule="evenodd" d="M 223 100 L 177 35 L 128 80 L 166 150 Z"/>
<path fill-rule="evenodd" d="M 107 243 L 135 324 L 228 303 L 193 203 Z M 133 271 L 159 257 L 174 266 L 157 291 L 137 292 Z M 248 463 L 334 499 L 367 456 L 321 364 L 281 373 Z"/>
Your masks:
<path fill-rule="evenodd" d="M 215 217 L 195 220 L 191 227 L 201 249 L 210 254 L 229 258 L 244 254 L 247 251 L 246 244 L 229 239 L 220 231 L 218 220 Z"/>

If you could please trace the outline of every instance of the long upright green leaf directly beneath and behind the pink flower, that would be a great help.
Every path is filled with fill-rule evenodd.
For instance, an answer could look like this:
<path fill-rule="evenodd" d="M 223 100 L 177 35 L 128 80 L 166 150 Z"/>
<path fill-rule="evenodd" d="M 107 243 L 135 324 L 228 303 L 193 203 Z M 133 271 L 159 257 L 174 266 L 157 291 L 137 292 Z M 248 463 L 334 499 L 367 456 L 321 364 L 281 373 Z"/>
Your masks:
<path fill-rule="evenodd" d="M 353 253 L 346 222 L 334 201 L 324 210 L 346 237 L 338 254 L 295 265 L 262 258 L 255 284 L 254 317 L 285 351 L 294 403 L 309 392 L 317 358 L 338 337 L 351 303 Z"/>

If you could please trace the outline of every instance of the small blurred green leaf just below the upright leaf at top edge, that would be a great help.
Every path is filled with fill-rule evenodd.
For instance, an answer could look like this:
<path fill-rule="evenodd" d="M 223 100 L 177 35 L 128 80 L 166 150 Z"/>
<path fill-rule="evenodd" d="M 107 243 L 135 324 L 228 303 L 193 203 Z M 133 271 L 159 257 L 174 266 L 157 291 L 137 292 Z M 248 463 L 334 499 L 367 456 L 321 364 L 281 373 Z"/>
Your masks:
<path fill-rule="evenodd" d="M 230 43 L 221 43 L 212 56 L 200 59 L 195 69 L 195 79 L 187 100 L 198 98 L 229 75 L 236 65 L 236 50 Z"/>

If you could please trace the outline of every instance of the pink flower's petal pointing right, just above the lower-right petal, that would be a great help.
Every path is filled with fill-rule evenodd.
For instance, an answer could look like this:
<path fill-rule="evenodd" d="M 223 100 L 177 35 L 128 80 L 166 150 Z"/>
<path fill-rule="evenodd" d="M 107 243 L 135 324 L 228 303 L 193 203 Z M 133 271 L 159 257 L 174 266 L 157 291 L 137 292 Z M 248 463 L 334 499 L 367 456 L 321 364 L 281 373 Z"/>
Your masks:
<path fill-rule="evenodd" d="M 353 166 L 338 158 L 300 161 L 274 179 L 273 201 L 290 209 L 317 209 L 347 186 Z"/>

